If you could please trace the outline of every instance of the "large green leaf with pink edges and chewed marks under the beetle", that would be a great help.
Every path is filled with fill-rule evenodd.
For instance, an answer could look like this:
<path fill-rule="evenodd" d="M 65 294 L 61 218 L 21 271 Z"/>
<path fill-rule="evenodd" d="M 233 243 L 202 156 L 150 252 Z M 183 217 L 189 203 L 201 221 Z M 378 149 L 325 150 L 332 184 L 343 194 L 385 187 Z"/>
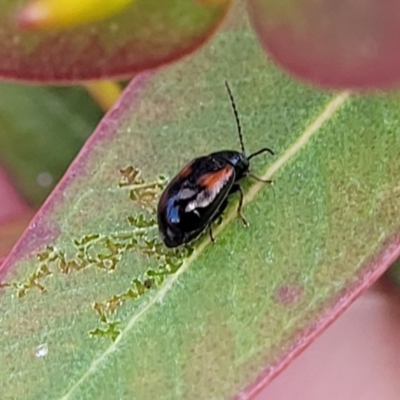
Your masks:
<path fill-rule="evenodd" d="M 248 398 L 398 255 L 397 95 L 299 85 L 244 15 L 132 82 L 3 264 L 6 399 Z M 275 184 L 243 183 L 249 228 L 233 197 L 214 245 L 166 251 L 161 175 L 239 148 L 224 79 Z"/>

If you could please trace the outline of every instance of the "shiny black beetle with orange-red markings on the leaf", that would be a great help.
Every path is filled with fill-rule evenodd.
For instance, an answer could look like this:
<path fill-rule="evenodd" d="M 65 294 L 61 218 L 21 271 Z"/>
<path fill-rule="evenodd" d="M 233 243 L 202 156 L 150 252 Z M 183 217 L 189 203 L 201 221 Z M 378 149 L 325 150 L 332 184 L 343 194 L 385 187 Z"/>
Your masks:
<path fill-rule="evenodd" d="M 227 81 L 225 86 L 236 120 L 241 152 L 222 150 L 195 158 L 169 182 L 157 207 L 158 229 L 167 247 L 188 243 L 207 228 L 214 242 L 211 225 L 228 205 L 228 196 L 235 192 L 239 194 L 238 216 L 247 226 L 242 215 L 243 191 L 239 181 L 251 176 L 265 183 L 272 182 L 250 172 L 253 157 L 265 152 L 274 155 L 274 152 L 264 147 L 246 156 L 239 115 Z"/>

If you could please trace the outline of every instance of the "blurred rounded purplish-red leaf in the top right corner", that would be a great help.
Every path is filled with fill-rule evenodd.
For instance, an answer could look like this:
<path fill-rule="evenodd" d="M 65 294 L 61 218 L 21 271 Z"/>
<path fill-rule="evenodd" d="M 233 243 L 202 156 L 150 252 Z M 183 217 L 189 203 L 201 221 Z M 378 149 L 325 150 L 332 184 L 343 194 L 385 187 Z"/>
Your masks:
<path fill-rule="evenodd" d="M 248 0 L 266 51 L 292 74 L 335 88 L 400 82 L 400 2 Z"/>

